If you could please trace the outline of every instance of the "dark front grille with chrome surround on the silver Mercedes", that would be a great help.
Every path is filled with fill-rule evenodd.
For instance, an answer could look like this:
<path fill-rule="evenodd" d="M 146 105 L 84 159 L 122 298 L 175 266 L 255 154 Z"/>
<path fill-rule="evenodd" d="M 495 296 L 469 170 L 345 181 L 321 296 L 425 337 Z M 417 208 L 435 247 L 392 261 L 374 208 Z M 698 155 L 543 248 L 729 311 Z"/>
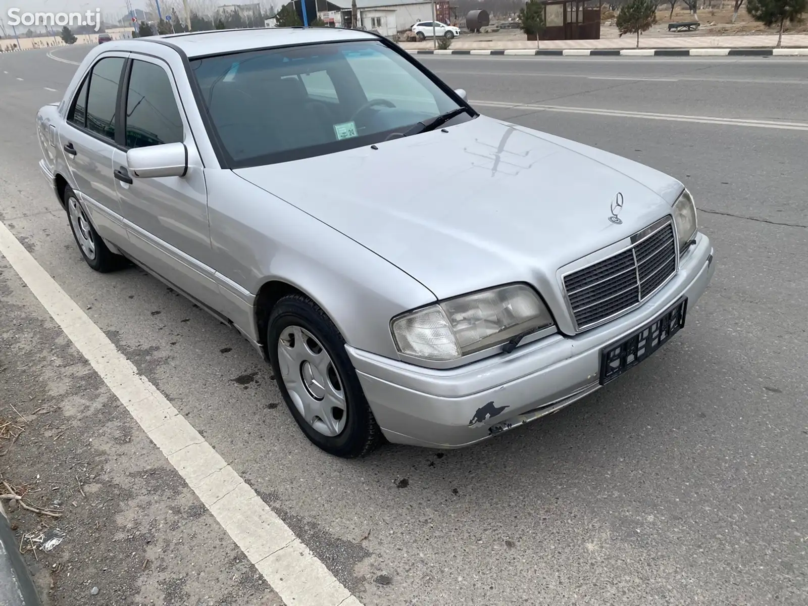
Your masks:
<path fill-rule="evenodd" d="M 632 237 L 617 255 L 564 276 L 564 290 L 578 330 L 645 301 L 676 271 L 671 221 L 654 224 Z"/>

